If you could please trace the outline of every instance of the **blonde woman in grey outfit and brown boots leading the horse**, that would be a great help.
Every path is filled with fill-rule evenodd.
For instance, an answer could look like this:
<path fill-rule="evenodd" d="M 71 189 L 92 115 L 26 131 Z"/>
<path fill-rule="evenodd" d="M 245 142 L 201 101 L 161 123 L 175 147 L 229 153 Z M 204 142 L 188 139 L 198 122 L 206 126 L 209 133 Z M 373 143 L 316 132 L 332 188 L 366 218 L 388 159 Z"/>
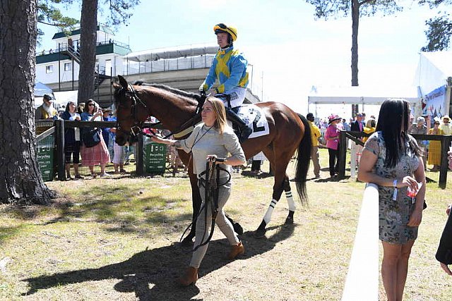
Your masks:
<path fill-rule="evenodd" d="M 201 265 L 204 255 L 208 248 L 208 230 L 210 221 L 212 220 L 211 202 L 205 199 L 205 182 L 206 176 L 206 157 L 207 159 L 215 157 L 218 158 L 215 164 L 220 164 L 222 168 L 230 173 L 230 166 L 244 164 L 245 155 L 240 147 L 239 139 L 234 134 L 231 128 L 226 123 L 225 106 L 220 99 L 215 97 L 208 97 L 203 105 L 201 111 L 203 123 L 197 125 L 191 135 L 185 140 L 168 140 L 157 136 L 153 137 L 153 142 L 164 143 L 165 145 L 172 145 L 179 149 L 184 149 L 185 152 L 192 153 L 194 173 L 198 175 L 198 187 L 203 203 L 201 204 L 201 211 L 196 221 L 196 240 L 194 244 L 194 252 L 191 257 L 191 262 L 186 274 L 179 278 L 179 283 L 183 286 L 196 283 L 198 280 L 198 269 Z M 220 228 L 220 231 L 225 234 L 227 240 L 231 245 L 231 251 L 227 258 L 235 259 L 240 254 L 245 252 L 242 242 L 237 237 L 237 234 L 232 228 L 232 224 L 225 216 L 223 207 L 230 196 L 231 182 L 230 174 L 224 170 L 219 171 L 219 185 L 218 188 L 218 215 L 215 222 Z"/>

